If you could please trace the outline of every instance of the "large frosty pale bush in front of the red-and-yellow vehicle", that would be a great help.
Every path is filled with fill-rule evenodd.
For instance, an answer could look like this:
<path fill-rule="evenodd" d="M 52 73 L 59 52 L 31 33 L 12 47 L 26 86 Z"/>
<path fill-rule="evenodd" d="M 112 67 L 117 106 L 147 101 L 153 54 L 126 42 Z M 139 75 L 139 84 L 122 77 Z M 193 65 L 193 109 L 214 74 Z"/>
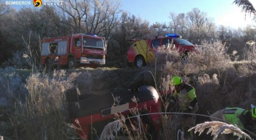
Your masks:
<path fill-rule="evenodd" d="M 213 74 L 216 71 L 231 68 L 227 49 L 220 41 L 203 42 L 201 46 L 195 46 L 195 51 L 189 53 L 188 62 L 184 66 L 184 74 Z"/>

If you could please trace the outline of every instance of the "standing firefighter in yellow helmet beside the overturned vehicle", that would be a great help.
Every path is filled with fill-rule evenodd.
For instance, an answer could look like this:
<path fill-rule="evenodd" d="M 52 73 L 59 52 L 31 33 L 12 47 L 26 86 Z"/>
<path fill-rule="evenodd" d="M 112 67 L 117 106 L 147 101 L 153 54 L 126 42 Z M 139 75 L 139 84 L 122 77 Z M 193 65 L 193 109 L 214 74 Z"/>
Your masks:
<path fill-rule="evenodd" d="M 178 100 L 181 112 L 198 112 L 197 97 L 192 85 L 182 82 L 181 77 L 178 76 L 172 77 L 170 84 L 175 87 L 172 99 Z M 172 99 L 171 102 L 173 101 Z M 195 121 L 195 115 L 184 114 L 180 117 L 180 123 L 182 123 L 186 128 L 195 126 Z"/>

